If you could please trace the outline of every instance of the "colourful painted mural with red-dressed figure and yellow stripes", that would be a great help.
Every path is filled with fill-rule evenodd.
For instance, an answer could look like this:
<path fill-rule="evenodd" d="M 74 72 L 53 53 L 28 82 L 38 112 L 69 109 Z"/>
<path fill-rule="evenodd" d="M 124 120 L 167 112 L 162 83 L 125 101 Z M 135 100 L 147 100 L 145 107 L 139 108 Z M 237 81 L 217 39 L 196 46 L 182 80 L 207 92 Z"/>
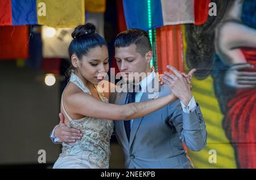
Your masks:
<path fill-rule="evenodd" d="M 185 69 L 208 145 L 189 151 L 196 168 L 256 168 L 256 1 L 212 1 L 217 16 L 184 28 Z"/>

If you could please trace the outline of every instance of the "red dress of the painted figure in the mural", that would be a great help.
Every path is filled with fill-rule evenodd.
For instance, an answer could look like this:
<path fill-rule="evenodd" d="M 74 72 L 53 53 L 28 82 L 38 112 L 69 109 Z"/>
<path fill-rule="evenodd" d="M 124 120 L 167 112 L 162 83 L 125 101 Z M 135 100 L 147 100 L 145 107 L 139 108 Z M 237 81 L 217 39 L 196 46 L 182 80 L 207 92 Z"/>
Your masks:
<path fill-rule="evenodd" d="M 242 48 L 248 63 L 256 71 L 256 49 Z M 238 90 L 228 103 L 228 114 L 224 123 L 229 125 L 231 143 L 240 168 L 256 168 L 256 88 Z"/>

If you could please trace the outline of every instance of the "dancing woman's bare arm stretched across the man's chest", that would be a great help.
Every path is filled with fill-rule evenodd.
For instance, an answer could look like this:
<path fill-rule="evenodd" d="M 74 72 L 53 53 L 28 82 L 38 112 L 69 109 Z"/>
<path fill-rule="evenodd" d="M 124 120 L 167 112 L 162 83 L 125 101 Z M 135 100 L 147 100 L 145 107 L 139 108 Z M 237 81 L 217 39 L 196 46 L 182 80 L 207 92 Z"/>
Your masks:
<path fill-rule="evenodd" d="M 108 104 L 97 100 L 86 93 L 74 93 L 64 98 L 64 106 L 68 112 L 94 118 L 110 120 L 129 120 L 155 112 L 177 98 L 171 94 L 154 100 L 136 102 L 125 105 Z"/>

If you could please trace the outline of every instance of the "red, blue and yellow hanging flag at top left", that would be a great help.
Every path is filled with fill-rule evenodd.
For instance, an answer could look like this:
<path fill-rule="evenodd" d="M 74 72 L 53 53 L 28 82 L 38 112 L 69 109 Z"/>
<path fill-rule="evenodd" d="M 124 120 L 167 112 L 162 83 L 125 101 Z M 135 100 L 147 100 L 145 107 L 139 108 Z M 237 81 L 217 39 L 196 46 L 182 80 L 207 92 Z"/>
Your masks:
<path fill-rule="evenodd" d="M 76 27 L 84 23 L 84 0 L 0 1 L 0 25 L 44 24 L 50 27 Z"/>

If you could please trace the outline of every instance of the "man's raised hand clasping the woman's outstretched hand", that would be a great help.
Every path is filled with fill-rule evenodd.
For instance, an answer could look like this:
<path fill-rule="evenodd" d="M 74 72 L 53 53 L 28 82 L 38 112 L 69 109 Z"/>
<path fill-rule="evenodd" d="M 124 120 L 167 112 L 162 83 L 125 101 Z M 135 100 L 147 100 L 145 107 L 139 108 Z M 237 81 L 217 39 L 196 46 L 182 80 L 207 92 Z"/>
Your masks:
<path fill-rule="evenodd" d="M 174 72 L 174 74 L 165 71 L 162 77 L 163 82 L 167 84 L 170 87 L 172 93 L 174 93 L 174 95 L 179 98 L 185 106 L 187 106 L 192 98 L 190 85 L 187 83 L 187 80 L 184 78 L 184 76 L 175 67 L 168 65 L 167 68 Z M 193 72 L 195 72 L 195 70 L 189 72 L 189 75 L 193 75 Z"/>

